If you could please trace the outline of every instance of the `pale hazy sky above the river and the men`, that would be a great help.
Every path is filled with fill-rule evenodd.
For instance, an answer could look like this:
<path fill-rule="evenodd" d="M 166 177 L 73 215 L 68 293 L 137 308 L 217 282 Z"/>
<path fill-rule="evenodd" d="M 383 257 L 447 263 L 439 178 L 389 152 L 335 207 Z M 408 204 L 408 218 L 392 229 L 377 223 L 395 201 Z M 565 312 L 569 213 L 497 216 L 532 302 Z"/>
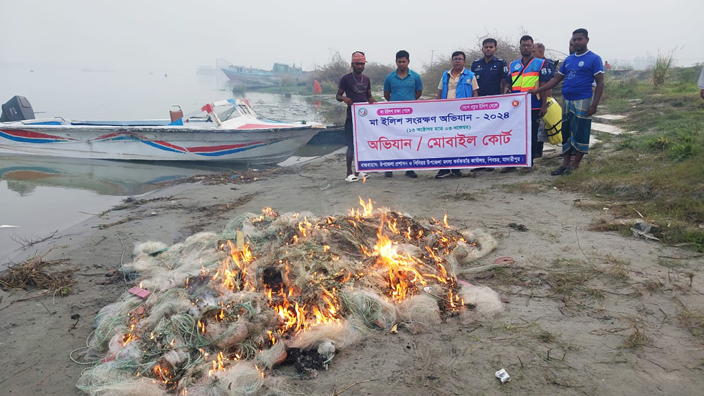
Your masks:
<path fill-rule="evenodd" d="M 430 50 L 449 54 L 477 35 L 522 30 L 548 49 L 567 50 L 572 30 L 589 30 L 604 60 L 633 59 L 678 47 L 679 65 L 704 62 L 703 0 L 646 4 L 625 0 L 0 0 L 0 63 L 76 68 L 195 70 L 215 58 L 270 69 L 275 61 L 325 63 L 346 58 L 392 63 L 410 52 L 411 68 Z M 689 33 L 686 33 L 689 32 Z M 436 58 L 437 60 L 437 58 Z"/>

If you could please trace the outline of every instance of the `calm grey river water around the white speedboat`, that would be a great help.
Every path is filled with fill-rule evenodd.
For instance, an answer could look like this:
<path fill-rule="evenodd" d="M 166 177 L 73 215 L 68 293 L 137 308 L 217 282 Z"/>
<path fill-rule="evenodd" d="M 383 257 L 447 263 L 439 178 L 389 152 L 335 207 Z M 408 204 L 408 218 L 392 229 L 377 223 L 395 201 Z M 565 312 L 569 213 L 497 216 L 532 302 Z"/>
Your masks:
<path fill-rule="evenodd" d="M 26 97 L 37 118 L 139 119 L 168 118 L 169 106 L 184 113 L 203 104 L 233 98 L 227 78 L 196 73 L 114 73 L 69 69 L 0 69 L 0 102 Z M 252 107 L 275 120 L 307 120 L 339 125 L 344 107 L 332 97 L 303 97 L 237 92 Z M 318 156 L 339 145 L 308 145 L 300 156 Z M 230 165 L 132 163 L 124 161 L 0 156 L 0 265 L 17 249 L 15 240 L 34 240 L 65 230 L 125 197 L 163 187 L 195 174 L 223 171 Z M 13 227 L 2 227 L 12 225 Z"/>

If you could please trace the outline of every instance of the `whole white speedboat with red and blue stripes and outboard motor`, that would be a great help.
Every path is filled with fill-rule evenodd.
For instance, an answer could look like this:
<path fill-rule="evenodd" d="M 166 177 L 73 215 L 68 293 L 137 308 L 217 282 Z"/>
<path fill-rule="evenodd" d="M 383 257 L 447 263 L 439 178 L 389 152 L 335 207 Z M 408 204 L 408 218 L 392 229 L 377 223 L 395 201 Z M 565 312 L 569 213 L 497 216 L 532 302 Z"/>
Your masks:
<path fill-rule="evenodd" d="M 246 100 L 227 99 L 155 120 L 34 119 L 29 101 L 3 105 L 0 153 L 84 159 L 278 163 L 325 126 L 263 118 Z"/>

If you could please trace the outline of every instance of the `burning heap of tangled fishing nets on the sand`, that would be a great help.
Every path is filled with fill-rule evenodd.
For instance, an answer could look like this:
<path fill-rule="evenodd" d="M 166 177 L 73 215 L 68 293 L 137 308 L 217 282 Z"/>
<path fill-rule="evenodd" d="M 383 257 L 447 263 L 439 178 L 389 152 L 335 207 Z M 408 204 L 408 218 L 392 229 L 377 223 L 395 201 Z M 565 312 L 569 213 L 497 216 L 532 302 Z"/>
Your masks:
<path fill-rule="evenodd" d="M 139 288 L 104 307 L 77 383 L 90 395 L 285 394 L 272 368 L 308 378 L 373 331 L 420 333 L 460 309 L 501 310 L 493 290 L 456 274 L 496 247 L 398 212 L 327 218 L 245 214 L 221 234 L 146 242 L 122 267 Z"/>

